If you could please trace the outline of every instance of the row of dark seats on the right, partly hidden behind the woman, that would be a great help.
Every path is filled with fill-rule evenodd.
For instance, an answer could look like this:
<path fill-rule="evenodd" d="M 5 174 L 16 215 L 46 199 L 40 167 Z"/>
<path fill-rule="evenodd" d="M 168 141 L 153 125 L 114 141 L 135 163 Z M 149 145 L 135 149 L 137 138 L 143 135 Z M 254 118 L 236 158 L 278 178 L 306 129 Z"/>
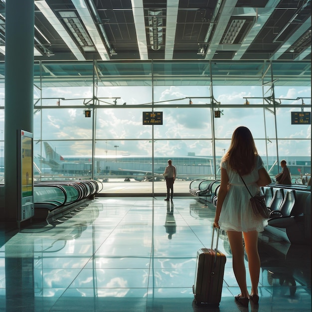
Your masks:
<path fill-rule="evenodd" d="M 205 192 L 191 188 L 196 184 L 195 180 L 190 183 L 190 194 L 216 207 L 220 180 L 209 180 Z M 290 243 L 311 244 L 311 188 L 270 184 L 262 191 L 270 210 L 265 230 Z"/>

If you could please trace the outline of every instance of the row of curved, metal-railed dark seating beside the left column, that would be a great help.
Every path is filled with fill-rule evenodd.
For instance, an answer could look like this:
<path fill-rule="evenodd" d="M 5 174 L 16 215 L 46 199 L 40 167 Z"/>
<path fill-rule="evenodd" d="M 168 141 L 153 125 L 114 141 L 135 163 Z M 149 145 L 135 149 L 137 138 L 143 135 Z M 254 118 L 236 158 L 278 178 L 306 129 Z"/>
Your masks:
<path fill-rule="evenodd" d="M 73 204 L 93 198 L 103 188 L 96 180 L 34 182 L 34 219 L 47 219 Z"/>

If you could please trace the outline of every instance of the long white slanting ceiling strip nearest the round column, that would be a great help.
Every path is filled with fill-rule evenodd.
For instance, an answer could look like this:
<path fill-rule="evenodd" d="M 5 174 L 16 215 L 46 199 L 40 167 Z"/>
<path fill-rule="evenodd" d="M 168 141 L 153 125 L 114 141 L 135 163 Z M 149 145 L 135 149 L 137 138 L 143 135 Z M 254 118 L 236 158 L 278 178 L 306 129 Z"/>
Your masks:
<path fill-rule="evenodd" d="M 56 32 L 58 32 L 58 34 L 62 37 L 62 39 L 70 48 L 70 50 L 73 52 L 77 60 L 85 61 L 85 57 L 81 53 L 80 49 L 78 48 L 74 40 L 71 38 L 67 30 L 64 28 L 62 23 L 55 16 L 54 12 L 51 10 L 47 2 L 45 0 L 37 0 L 35 1 L 35 5 L 38 7 L 41 13 L 45 16 L 45 18 L 49 21 L 49 23 L 56 30 Z"/>

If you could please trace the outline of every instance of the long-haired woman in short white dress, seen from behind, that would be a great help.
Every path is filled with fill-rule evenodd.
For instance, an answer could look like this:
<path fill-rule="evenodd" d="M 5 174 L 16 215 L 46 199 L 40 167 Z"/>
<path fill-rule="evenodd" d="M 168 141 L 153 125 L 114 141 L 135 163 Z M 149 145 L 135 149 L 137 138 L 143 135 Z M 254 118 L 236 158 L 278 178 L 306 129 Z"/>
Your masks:
<path fill-rule="evenodd" d="M 258 155 L 254 139 L 246 127 L 235 129 L 231 145 L 221 160 L 221 185 L 218 192 L 214 227 L 226 230 L 232 251 L 233 271 L 241 294 L 235 296 L 237 303 L 248 307 L 249 300 L 258 304 L 260 258 L 258 232 L 264 230 L 264 219 L 253 213 L 250 192 L 255 195 L 260 186 L 271 183 L 271 178 Z M 248 257 L 251 293 L 246 285 L 244 246 Z"/>

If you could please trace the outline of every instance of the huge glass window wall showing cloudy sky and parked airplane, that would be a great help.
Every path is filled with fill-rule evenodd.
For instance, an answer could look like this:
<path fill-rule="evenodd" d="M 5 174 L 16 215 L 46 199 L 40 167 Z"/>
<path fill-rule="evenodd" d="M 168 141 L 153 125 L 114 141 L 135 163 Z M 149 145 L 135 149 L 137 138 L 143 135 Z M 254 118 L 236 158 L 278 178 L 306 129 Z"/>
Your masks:
<path fill-rule="evenodd" d="M 98 178 L 107 182 L 106 193 L 163 193 L 168 159 L 177 167 L 176 187 L 193 178 L 220 177 L 220 159 L 234 129 L 243 125 L 251 130 L 271 176 L 286 159 L 300 183 L 311 175 L 311 124 L 293 125 L 291 116 L 311 113 L 311 82 L 296 74 L 302 72 L 298 64 L 287 65 L 288 75 L 285 66 L 254 61 L 36 63 L 36 178 Z M 0 94 L 1 108 L 4 85 Z M 162 125 L 144 125 L 144 112 L 162 112 Z M 1 133 L 3 152 L 3 109 Z M 0 160 L 4 163 L 1 155 Z M 179 191 L 188 193 L 187 186 Z"/>

